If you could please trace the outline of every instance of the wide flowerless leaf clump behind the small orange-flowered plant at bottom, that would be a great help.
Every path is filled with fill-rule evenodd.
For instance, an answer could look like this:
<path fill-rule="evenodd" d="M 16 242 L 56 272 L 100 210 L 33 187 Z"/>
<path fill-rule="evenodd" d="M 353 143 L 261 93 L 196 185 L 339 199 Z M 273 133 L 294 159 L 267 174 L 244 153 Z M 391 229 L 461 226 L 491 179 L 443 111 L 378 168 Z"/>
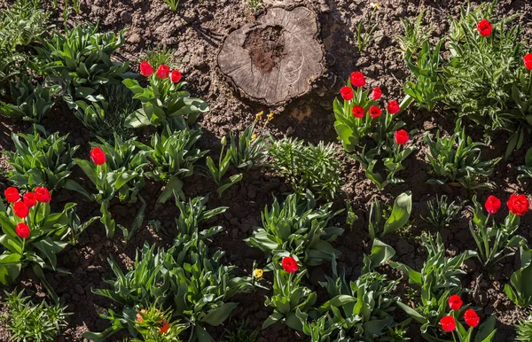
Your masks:
<path fill-rule="evenodd" d="M 196 230 L 194 236 L 198 235 Z M 192 329 L 192 339 L 212 341 L 205 326 L 223 323 L 238 305 L 228 300 L 239 292 L 250 291 L 252 286 L 250 277 L 234 276 L 234 267 L 223 265 L 222 258 L 222 251 L 208 253 L 207 245 L 200 239 L 178 236 L 176 245 L 166 252 L 156 251 L 154 245 L 144 245 L 134 268 L 126 274 L 114 260 L 109 260 L 115 279 L 107 283 L 113 288 L 94 292 L 119 303 L 121 311 L 109 310 L 108 315 L 102 315 L 113 324 L 108 329 L 83 336 L 98 342 L 127 329 L 138 338 L 137 313 L 155 305 L 174 306 L 173 316 L 181 317 Z"/>

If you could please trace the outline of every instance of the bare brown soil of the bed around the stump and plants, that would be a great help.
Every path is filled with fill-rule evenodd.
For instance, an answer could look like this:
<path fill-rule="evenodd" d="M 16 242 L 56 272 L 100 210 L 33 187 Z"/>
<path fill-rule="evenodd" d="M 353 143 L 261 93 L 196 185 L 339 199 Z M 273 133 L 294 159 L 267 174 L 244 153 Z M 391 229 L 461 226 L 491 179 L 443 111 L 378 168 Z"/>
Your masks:
<path fill-rule="evenodd" d="M 45 1 L 46 2 L 46 1 Z M 51 1 L 47 1 L 51 4 Z M 277 0 L 265 0 L 266 4 L 281 3 Z M 202 97 L 210 105 L 210 112 L 200 119 L 204 128 L 201 148 L 210 149 L 215 155 L 220 149 L 219 139 L 229 131 L 241 131 L 254 120 L 254 114 L 260 111 L 273 111 L 275 119 L 269 124 L 270 133 L 274 136 L 291 134 L 309 142 L 320 140 L 334 142 L 338 146 L 339 158 L 344 160 L 344 174 L 352 206 L 359 219 L 355 227 L 347 229 L 338 239 L 335 247 L 342 253 L 339 268 L 345 268 L 348 278 L 356 279 L 362 267 L 363 253 L 368 252 L 370 237 L 367 233 L 368 205 L 372 198 L 378 197 L 388 203 L 404 190 L 411 190 L 413 194 L 413 214 L 411 228 L 397 238 L 388 237 L 386 242 L 392 245 L 397 255 L 396 260 L 407 263 L 413 268 L 421 268 L 426 257 L 425 249 L 419 244 L 419 234 L 428 229 L 426 222 L 419 219 L 426 215 L 426 201 L 436 194 L 447 194 L 451 199 L 467 199 L 477 195 L 486 198 L 487 191 L 467 191 L 463 188 L 450 186 L 435 186 L 427 184 L 430 178 L 430 166 L 426 163 L 425 144 L 422 135 L 427 130 L 441 129 L 449 132 L 454 128 L 454 117 L 441 110 L 436 113 L 426 113 L 411 109 L 402 113 L 402 120 L 407 127 L 417 128 L 418 134 L 413 137 L 414 144 L 419 146 L 418 152 L 409 158 L 406 169 L 399 175 L 405 183 L 390 185 L 383 192 L 376 190 L 364 176 L 364 171 L 355 164 L 353 159 L 346 158 L 341 152 L 340 144 L 336 141 L 333 129 L 332 99 L 337 96 L 340 87 L 345 84 L 348 75 L 359 70 L 366 75 L 368 86 L 379 86 L 385 96 L 383 101 L 400 99 L 403 97 L 402 83 L 408 78 L 408 71 L 404 66 L 403 57 L 397 51 L 398 45 L 395 35 L 402 32 L 400 18 L 415 19 L 418 13 L 426 9 L 426 23 L 434 26 L 433 36 L 437 39 L 448 29 L 448 17 L 458 15 L 458 6 L 464 4 L 461 0 L 445 2 L 431 0 L 391 0 L 382 2 L 379 8 L 379 32 L 381 38 L 372 42 L 365 51 L 356 48 L 356 25 L 362 16 L 369 16 L 372 7 L 364 0 L 286 0 L 284 4 L 304 4 L 318 13 L 321 26 L 321 39 L 327 51 L 328 73 L 317 82 L 312 91 L 289 105 L 278 108 L 267 108 L 256 105 L 239 97 L 224 81 L 223 75 L 216 66 L 216 56 L 225 36 L 245 23 L 254 20 L 254 14 L 247 10 L 245 0 L 183 0 L 176 12 L 172 12 L 162 0 L 81 0 L 81 15 L 71 16 L 69 22 L 90 20 L 99 21 L 102 30 L 119 31 L 127 28 L 127 43 L 121 49 L 119 58 L 135 62 L 145 49 L 160 45 L 168 45 L 177 50 L 176 57 L 181 61 L 181 72 L 189 83 L 189 89 L 194 96 Z M 473 1 L 479 4 L 480 1 Z M 1 4 L 0 4 L 1 5 Z M 532 37 L 532 4 L 528 0 L 500 0 L 497 4 L 499 13 L 520 13 L 518 19 L 523 27 L 523 39 Z M 60 20 L 61 13 L 51 9 L 53 18 Z M 61 25 L 59 24 L 59 27 Z M 274 58 L 271 58 L 274 60 Z M 267 64 L 268 66 L 268 64 Z M 384 102 L 383 102 L 384 103 Z M 69 142 L 80 144 L 82 148 L 77 153 L 78 158 L 88 158 L 91 137 L 82 124 L 69 113 L 66 106 L 58 105 L 55 112 L 43 122 L 49 131 L 70 133 Z M 27 123 L 0 122 L 0 149 L 12 150 L 10 135 L 12 132 L 26 131 Z M 481 138 L 481 132 L 475 128 L 468 128 L 468 133 L 475 138 Z M 489 148 L 484 152 L 485 158 L 494 158 L 505 152 L 506 134 L 493 136 Z M 530 147 L 528 141 L 525 146 L 501 161 L 491 181 L 497 184 L 497 190 L 492 193 L 499 198 L 508 198 L 511 193 L 530 192 L 528 181 L 517 179 L 517 166 L 524 162 L 524 152 Z M 0 167 L 5 169 L 4 157 L 0 157 Z M 81 177 L 79 172 L 76 177 Z M 200 176 L 186 180 L 185 193 L 187 197 L 203 196 L 215 190 L 215 184 L 206 182 Z M 0 178 L 0 191 L 9 186 L 4 178 Z M 141 229 L 125 244 L 120 237 L 109 240 L 105 237 L 105 230 L 101 224 L 95 223 L 88 229 L 79 243 L 69 247 L 59 255 L 60 268 L 68 269 L 71 274 L 49 274 L 51 284 L 58 292 L 68 311 L 74 313 L 69 317 L 69 326 L 63 331 L 58 341 L 82 341 L 82 333 L 86 330 L 100 331 L 106 329 L 108 322 L 99 318 L 98 312 L 102 307 L 114 307 L 113 303 L 91 292 L 96 288 L 107 288 L 104 279 L 113 276 L 107 258 L 113 257 L 122 269 L 130 266 L 135 253 L 147 241 L 161 246 L 171 244 L 174 237 L 174 218 L 177 214 L 175 206 L 168 202 L 161 206 L 155 204 L 160 184 L 148 183 L 143 190 L 143 197 L 147 199 L 145 222 L 159 220 L 165 228 L 162 232 L 152 229 Z M 223 194 L 218 200 L 211 196 L 210 207 L 229 206 L 218 224 L 225 229 L 215 237 L 212 248 L 225 250 L 226 261 L 238 266 L 242 274 L 250 274 L 254 260 L 259 265 L 263 262 L 260 251 L 248 247 L 242 239 L 248 237 L 252 227 L 261 224 L 261 211 L 264 206 L 272 202 L 272 195 L 289 191 L 289 187 L 282 180 L 271 175 L 267 169 L 259 169 L 247 173 L 242 182 L 237 183 Z M 61 191 L 57 195 L 54 205 L 61 207 L 66 202 L 78 203 L 78 213 L 82 219 L 98 215 L 98 206 L 90 203 L 71 192 Z M 337 206 L 340 208 L 341 203 Z M 113 205 L 113 218 L 117 223 L 127 226 L 137 213 L 137 206 Z M 448 229 L 441 229 L 440 233 L 445 241 L 448 253 L 454 254 L 473 249 L 474 242 L 468 231 L 468 213 L 464 211 L 458 222 L 454 222 Z M 343 224 L 338 218 L 338 224 Z M 348 228 L 348 227 L 346 227 Z M 521 221 L 520 234 L 532 237 L 532 214 L 527 214 Z M 118 234 L 120 235 L 120 234 Z M 509 281 L 512 272 L 519 266 L 519 258 L 509 258 L 505 262 L 488 271 L 483 270 L 476 260 L 469 260 L 466 265 L 468 272 L 464 276 L 463 285 L 471 292 L 465 295 L 465 302 L 472 303 L 478 308 L 481 319 L 487 315 L 497 315 L 497 335 L 494 340 L 512 341 L 514 329 L 512 325 L 521 317 L 527 315 L 524 310 L 515 307 L 505 297 L 503 288 Z M 311 272 L 309 286 L 318 289 L 318 281 L 324 279 L 328 269 L 317 268 Z M 394 276 L 400 276 L 392 272 Z M 20 277 L 19 288 L 26 288 L 43 297 L 44 290 L 36 277 L 25 272 Z M 12 288 L 8 289 L 12 290 Z M 270 309 L 264 307 L 265 291 L 258 291 L 250 295 L 239 296 L 239 307 L 232 318 L 249 320 L 250 326 L 259 330 Z M 402 315 L 398 310 L 397 315 Z M 227 324 L 226 324 L 227 326 Z M 223 328 L 218 327 L 209 331 L 215 340 L 221 340 Z M 409 334 L 412 341 L 419 341 L 417 331 L 419 327 L 412 324 Z M 261 331 L 262 341 L 282 342 L 309 340 L 301 334 L 287 329 L 282 324 L 275 324 L 267 330 Z M 0 325 L 0 340 L 9 340 L 6 330 Z M 116 335 L 109 341 L 120 341 Z"/>

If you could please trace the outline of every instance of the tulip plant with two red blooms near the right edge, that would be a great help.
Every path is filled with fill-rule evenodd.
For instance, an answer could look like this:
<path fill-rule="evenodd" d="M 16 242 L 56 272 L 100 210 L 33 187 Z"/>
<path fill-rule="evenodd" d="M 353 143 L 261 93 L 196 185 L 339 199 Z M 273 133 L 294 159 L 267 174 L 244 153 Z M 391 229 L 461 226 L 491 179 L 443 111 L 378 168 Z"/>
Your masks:
<path fill-rule="evenodd" d="M 515 235 L 519 229 L 520 216 L 528 211 L 529 204 L 525 195 L 510 196 L 507 202 L 509 213 L 504 223 L 497 223 L 495 217 L 491 217 L 492 214 L 497 214 L 501 206 L 500 199 L 495 196 L 489 196 L 484 204 L 488 216 L 483 213 L 481 204 L 474 197 L 473 205 L 473 222 L 469 223 L 469 229 L 477 245 L 478 258 L 485 267 L 512 255 L 514 252 L 510 248 L 526 243 L 524 237 Z"/>

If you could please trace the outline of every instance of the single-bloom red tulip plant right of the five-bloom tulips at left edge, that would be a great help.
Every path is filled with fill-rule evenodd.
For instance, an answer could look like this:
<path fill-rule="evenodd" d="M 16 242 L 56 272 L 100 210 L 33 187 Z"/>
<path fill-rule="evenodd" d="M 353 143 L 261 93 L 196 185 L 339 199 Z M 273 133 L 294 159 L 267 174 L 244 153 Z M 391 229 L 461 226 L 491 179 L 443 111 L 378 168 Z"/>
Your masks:
<path fill-rule="evenodd" d="M 121 228 L 127 240 L 131 232 L 141 226 L 144 218 L 145 200 L 138 196 L 138 191 L 145 186 L 144 172 L 147 166 L 148 148 L 134 138 L 123 142 L 119 136 L 114 136 L 114 145 L 107 144 L 103 140 L 101 143 L 92 144 L 91 161 L 74 159 L 98 192 L 91 194 L 77 183 L 71 184 L 69 189 L 76 190 L 98 202 L 102 213 L 100 221 L 106 227 L 107 237 L 113 237 L 116 229 L 116 223 L 109 211 L 111 200 L 118 195 L 121 203 L 135 203 L 139 198 L 142 206 L 133 227 L 130 230 Z"/>

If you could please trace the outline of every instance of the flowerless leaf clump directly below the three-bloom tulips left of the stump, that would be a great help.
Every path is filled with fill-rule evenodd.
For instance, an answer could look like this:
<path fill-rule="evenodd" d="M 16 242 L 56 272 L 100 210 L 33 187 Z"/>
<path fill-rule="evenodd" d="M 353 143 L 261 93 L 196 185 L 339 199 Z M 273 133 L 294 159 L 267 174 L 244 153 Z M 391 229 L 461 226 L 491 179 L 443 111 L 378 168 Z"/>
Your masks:
<path fill-rule="evenodd" d="M 148 158 L 153 162 L 153 170 L 146 175 L 166 183 L 158 199 L 160 203 L 172 195 L 184 198 L 184 177 L 194 173 L 196 162 L 207 153 L 196 146 L 200 137 L 200 129 L 184 128 L 172 132 L 168 127 L 161 135 L 156 133 L 152 137 Z"/>

